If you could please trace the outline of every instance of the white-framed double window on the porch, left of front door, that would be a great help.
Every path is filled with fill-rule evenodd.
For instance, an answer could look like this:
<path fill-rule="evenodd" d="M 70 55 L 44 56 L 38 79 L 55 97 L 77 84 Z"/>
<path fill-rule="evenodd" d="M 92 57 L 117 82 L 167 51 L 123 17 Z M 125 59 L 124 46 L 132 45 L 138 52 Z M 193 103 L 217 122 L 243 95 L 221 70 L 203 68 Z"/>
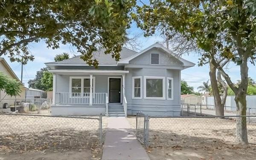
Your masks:
<path fill-rule="evenodd" d="M 95 77 L 93 77 L 93 93 L 95 93 Z M 70 96 L 90 96 L 90 77 L 70 77 Z"/>

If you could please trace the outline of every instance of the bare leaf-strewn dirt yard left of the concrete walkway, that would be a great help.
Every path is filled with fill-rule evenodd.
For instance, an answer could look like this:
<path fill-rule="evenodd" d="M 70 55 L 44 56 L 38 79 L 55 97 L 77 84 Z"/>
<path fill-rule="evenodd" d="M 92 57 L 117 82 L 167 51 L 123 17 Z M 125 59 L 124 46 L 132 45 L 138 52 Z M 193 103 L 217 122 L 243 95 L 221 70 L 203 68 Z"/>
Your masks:
<path fill-rule="evenodd" d="M 106 121 L 103 118 L 103 129 Z M 0 115 L 0 160 L 99 160 L 99 120 Z M 2 158 L 2 159 L 1 159 Z"/>

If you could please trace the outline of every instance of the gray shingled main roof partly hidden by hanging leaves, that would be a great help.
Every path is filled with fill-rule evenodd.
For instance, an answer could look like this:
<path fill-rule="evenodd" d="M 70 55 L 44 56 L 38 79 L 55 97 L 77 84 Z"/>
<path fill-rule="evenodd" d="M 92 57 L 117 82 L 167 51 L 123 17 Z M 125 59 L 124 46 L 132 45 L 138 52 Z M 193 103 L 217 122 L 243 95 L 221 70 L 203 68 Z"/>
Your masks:
<path fill-rule="evenodd" d="M 117 62 L 115 61 L 115 59 L 112 58 L 111 54 L 105 54 L 104 53 L 104 49 L 97 51 L 94 54 L 95 59 L 98 60 L 99 62 L 99 66 L 100 65 L 117 65 Z M 120 58 L 121 59 L 126 59 L 130 56 L 135 55 L 137 52 L 136 51 L 132 51 L 128 48 L 122 47 L 122 50 L 120 52 Z M 80 58 L 80 56 L 75 56 L 73 58 L 70 59 L 66 59 L 63 61 L 59 61 L 59 62 L 49 62 L 49 63 L 45 63 L 46 65 L 87 65 L 86 62 L 84 62 L 84 60 L 82 60 Z"/>

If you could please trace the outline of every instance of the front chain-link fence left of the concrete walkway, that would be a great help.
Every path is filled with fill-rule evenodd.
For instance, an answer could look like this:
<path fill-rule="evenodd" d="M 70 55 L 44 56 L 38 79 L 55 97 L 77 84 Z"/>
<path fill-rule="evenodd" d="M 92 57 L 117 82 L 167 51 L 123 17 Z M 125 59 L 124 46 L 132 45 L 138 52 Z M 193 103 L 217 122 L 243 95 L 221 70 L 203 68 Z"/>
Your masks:
<path fill-rule="evenodd" d="M 50 116 L 0 113 L 0 152 L 68 151 L 102 145 L 102 115 Z"/>

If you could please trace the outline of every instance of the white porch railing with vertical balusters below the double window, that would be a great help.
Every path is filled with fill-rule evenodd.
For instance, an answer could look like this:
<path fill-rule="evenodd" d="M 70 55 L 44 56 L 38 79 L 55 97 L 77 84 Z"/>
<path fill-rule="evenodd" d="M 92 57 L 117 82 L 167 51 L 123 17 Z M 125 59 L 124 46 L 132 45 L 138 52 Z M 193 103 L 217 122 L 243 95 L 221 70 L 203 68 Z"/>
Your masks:
<path fill-rule="evenodd" d="M 93 93 L 92 104 L 106 104 L 107 93 Z M 90 93 L 56 92 L 55 104 L 90 104 Z"/>

